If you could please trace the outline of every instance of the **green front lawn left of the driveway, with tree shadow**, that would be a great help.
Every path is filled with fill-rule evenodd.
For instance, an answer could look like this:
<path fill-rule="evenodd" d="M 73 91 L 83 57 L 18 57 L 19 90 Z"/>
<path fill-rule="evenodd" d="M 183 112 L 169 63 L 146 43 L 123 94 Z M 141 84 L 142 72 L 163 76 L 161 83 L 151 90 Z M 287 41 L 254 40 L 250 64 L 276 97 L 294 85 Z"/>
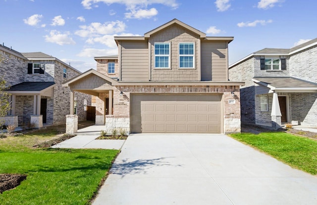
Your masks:
<path fill-rule="evenodd" d="M 34 149 L 54 132 L 0 139 L 0 173 L 27 174 L 15 189 L 0 194 L 0 205 L 86 205 L 118 150 Z"/>

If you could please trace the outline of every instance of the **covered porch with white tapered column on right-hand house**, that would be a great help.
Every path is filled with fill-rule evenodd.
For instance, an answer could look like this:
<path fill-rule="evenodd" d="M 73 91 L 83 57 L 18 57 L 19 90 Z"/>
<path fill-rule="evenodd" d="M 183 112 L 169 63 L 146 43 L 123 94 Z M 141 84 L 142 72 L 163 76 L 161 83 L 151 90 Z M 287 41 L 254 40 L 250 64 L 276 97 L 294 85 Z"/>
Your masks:
<path fill-rule="evenodd" d="M 254 77 L 256 124 L 317 126 L 317 83 L 294 77 Z"/>

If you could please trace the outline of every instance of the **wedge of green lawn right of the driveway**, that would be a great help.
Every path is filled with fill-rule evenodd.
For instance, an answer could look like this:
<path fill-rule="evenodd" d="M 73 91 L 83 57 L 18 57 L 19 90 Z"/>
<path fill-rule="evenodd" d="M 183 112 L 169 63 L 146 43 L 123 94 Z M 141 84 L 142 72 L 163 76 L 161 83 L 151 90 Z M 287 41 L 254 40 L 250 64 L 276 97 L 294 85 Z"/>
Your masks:
<path fill-rule="evenodd" d="M 282 132 L 259 135 L 241 133 L 230 136 L 258 148 L 292 167 L 313 175 L 317 174 L 317 140 Z"/>

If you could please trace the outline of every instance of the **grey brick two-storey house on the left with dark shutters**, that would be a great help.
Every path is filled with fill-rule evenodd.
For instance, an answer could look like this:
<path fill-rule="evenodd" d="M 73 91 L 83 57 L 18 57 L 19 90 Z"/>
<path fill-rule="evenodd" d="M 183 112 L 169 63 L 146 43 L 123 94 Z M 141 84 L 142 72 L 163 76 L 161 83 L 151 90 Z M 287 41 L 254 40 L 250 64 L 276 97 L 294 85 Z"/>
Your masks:
<path fill-rule="evenodd" d="M 5 124 L 33 126 L 58 125 L 70 113 L 69 89 L 61 83 L 81 72 L 47 54 L 19 53 L 0 45 L 1 78 L 7 82 L 11 93 L 11 110 L 4 117 Z M 76 93 L 74 112 L 86 119 L 86 105 L 91 96 Z M 32 126 L 32 125 L 31 125 Z"/>

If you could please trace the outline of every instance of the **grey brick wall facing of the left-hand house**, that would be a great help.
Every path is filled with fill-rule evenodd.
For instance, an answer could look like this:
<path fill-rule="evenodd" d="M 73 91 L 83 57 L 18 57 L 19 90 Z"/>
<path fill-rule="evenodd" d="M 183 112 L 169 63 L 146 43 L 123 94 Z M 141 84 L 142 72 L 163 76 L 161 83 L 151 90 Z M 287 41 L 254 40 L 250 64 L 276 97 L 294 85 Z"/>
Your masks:
<path fill-rule="evenodd" d="M 41 96 L 42 99 L 47 99 L 46 122 L 48 125 L 64 124 L 66 122 L 65 116 L 70 114 L 70 90 L 69 88 L 62 87 L 61 83 L 80 74 L 80 72 L 57 59 L 30 61 L 21 53 L 3 46 L 0 46 L 0 57 L 4 59 L 0 63 L 0 72 L 3 73 L 3 79 L 7 82 L 7 86 L 12 86 L 21 82 L 55 82 L 53 97 Z M 45 73 L 27 74 L 28 63 L 44 63 Z M 66 78 L 63 77 L 63 68 L 67 69 Z M 77 114 L 79 120 L 85 120 L 85 105 L 91 104 L 91 96 L 75 92 L 75 98 L 78 102 Z M 19 126 L 28 126 L 31 123 L 33 105 L 33 95 L 16 95 L 15 115 L 18 117 Z M 37 120 L 37 122 L 39 122 L 39 120 Z M 9 121 L 7 121 L 6 124 L 8 123 Z"/>

